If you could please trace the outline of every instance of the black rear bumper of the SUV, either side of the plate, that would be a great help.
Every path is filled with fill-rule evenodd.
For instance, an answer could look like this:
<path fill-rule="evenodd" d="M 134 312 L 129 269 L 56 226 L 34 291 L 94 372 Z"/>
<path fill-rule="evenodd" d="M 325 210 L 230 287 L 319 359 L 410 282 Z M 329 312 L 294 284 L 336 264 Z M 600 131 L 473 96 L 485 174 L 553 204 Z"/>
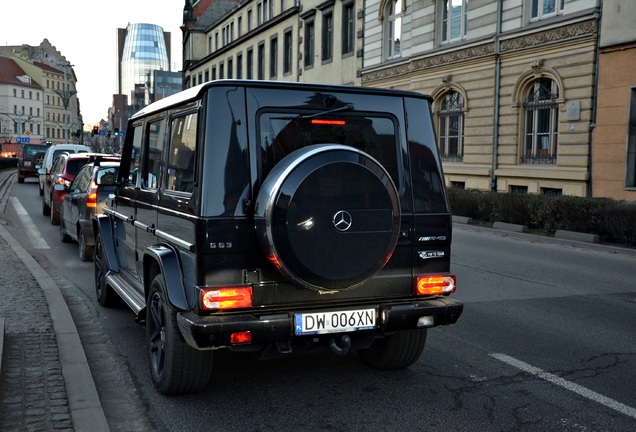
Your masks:
<path fill-rule="evenodd" d="M 356 308 L 377 307 L 378 325 L 372 330 L 382 335 L 400 330 L 418 328 L 418 320 L 432 317 L 433 324 L 420 326 L 440 327 L 455 324 L 461 315 L 463 303 L 447 297 L 388 304 L 356 305 Z M 312 311 L 303 311 L 312 312 Z M 201 316 L 193 312 L 177 314 L 177 323 L 186 342 L 196 349 L 215 349 L 232 346 L 230 336 L 235 332 L 251 332 L 254 346 L 292 342 L 294 312 L 277 314 L 237 314 Z M 368 336 L 368 332 L 366 334 Z M 351 338 L 357 332 L 348 333 Z M 363 333 L 363 332 L 360 332 Z"/>

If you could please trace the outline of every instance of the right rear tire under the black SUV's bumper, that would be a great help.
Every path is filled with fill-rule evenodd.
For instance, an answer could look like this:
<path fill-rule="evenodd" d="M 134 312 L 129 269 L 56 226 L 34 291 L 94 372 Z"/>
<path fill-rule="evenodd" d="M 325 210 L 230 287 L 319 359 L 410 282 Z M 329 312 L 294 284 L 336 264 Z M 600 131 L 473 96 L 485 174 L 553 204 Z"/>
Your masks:
<path fill-rule="evenodd" d="M 359 349 L 364 363 L 375 369 L 404 369 L 415 363 L 426 345 L 426 329 L 404 330 Z"/>

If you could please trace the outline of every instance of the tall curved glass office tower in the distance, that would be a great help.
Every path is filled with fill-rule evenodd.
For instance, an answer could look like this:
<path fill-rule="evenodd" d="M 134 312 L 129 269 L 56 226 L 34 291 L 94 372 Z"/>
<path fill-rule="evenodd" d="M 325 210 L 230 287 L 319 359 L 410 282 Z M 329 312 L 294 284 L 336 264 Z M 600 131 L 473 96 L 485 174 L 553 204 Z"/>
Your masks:
<path fill-rule="evenodd" d="M 128 24 L 120 60 L 120 94 L 134 109 L 151 102 L 155 70 L 170 70 L 169 50 L 163 29 L 155 24 Z"/>

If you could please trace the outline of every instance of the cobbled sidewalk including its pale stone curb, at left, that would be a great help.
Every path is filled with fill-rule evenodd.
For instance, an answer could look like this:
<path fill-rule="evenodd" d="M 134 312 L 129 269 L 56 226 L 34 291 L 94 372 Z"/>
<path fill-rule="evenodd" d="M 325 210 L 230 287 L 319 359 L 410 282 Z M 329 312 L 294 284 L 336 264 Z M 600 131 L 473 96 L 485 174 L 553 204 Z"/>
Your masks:
<path fill-rule="evenodd" d="M 0 430 L 108 431 L 59 287 L 5 228 L 15 178 L 0 172 Z"/>

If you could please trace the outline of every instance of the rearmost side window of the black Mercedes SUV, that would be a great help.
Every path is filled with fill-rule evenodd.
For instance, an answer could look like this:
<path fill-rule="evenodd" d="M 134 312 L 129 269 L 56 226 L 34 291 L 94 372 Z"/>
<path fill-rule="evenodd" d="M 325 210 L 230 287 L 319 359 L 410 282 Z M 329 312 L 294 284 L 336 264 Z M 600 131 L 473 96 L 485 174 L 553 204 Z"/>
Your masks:
<path fill-rule="evenodd" d="M 197 113 L 174 117 L 170 126 L 170 147 L 166 189 L 192 192 L 194 184 Z"/>

